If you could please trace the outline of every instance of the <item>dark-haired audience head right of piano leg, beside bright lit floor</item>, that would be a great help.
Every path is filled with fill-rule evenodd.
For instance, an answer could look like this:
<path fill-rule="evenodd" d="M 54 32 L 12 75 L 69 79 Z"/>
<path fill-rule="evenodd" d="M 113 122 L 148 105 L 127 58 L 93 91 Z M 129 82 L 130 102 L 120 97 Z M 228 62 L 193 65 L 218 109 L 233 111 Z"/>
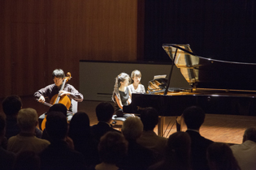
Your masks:
<path fill-rule="evenodd" d="M 186 108 L 183 112 L 184 122 L 188 129 L 199 130 L 205 121 L 206 113 L 197 106 Z"/>

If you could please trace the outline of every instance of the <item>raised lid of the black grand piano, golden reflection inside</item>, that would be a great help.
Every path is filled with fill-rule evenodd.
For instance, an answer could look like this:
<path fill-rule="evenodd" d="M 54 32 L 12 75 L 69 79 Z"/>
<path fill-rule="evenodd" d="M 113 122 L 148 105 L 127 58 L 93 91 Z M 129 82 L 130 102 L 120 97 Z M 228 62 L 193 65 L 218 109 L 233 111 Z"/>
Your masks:
<path fill-rule="evenodd" d="M 199 57 L 189 45 L 163 45 L 171 60 L 193 88 L 256 91 L 256 64 Z"/>

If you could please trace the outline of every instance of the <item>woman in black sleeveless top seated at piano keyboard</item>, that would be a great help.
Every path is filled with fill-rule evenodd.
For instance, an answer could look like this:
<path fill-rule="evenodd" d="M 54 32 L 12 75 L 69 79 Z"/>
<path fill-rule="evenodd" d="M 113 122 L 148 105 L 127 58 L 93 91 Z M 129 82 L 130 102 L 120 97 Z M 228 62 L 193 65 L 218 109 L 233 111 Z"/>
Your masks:
<path fill-rule="evenodd" d="M 132 92 L 128 88 L 130 77 L 126 73 L 121 73 L 115 78 L 115 86 L 112 100 L 115 102 L 115 114 L 117 117 L 131 117 L 132 114 L 124 114 L 123 106 L 131 104 Z"/>

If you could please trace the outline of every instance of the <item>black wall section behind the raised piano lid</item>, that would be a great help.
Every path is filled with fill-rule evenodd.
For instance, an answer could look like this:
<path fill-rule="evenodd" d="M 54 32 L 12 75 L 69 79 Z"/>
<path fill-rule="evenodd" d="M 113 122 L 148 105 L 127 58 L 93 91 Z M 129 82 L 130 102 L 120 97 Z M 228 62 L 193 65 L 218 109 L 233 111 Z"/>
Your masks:
<path fill-rule="evenodd" d="M 189 44 L 202 57 L 256 62 L 253 0 L 145 1 L 145 59 L 169 60 L 163 44 Z"/>

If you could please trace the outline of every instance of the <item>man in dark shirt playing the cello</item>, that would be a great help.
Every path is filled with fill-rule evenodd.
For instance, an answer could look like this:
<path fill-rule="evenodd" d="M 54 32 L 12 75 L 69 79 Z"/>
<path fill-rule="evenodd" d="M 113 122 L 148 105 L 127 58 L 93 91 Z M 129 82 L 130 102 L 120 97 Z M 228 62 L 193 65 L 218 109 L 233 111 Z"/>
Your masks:
<path fill-rule="evenodd" d="M 78 102 L 81 102 L 84 100 L 84 96 L 76 90 L 75 87 L 73 87 L 71 84 L 65 83 L 63 86 L 63 90 L 61 90 L 61 87 L 63 85 L 64 79 L 65 79 L 65 73 L 61 69 L 55 69 L 52 73 L 52 78 L 54 80 L 53 84 L 50 84 L 44 88 L 41 88 L 39 91 L 34 93 L 34 96 L 37 97 L 38 101 L 41 103 L 44 103 L 46 101 L 46 97 L 49 98 L 49 100 L 54 100 L 54 97 L 59 96 L 67 96 L 68 99 L 76 100 Z M 61 90 L 61 91 L 60 91 Z M 72 112 L 72 104 L 68 108 L 69 111 Z M 67 117 L 69 113 L 67 113 Z M 42 114 L 39 119 L 44 119 L 45 115 Z"/>

